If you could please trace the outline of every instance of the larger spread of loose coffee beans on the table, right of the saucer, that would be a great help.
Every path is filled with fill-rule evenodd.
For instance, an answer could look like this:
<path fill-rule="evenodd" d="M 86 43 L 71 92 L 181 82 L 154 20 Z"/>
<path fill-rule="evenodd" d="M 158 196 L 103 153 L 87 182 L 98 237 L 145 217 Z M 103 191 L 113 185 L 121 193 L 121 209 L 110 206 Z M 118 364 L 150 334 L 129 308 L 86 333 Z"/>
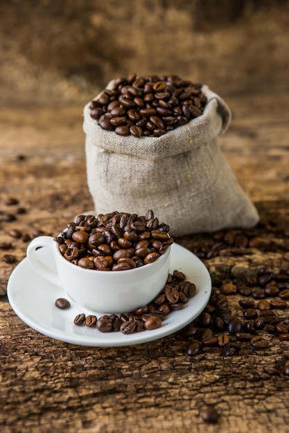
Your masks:
<path fill-rule="evenodd" d="M 234 288 L 229 294 L 228 286 Z M 235 356 L 248 345 L 256 351 L 268 349 L 272 338 L 289 341 L 288 302 L 282 299 L 288 288 L 289 269 L 275 274 L 260 268 L 256 275 L 214 282 L 204 311 L 180 331 L 189 340 L 186 353 L 197 356 L 207 347 L 219 347 L 221 356 Z M 231 306 L 236 295 L 238 306 Z"/>

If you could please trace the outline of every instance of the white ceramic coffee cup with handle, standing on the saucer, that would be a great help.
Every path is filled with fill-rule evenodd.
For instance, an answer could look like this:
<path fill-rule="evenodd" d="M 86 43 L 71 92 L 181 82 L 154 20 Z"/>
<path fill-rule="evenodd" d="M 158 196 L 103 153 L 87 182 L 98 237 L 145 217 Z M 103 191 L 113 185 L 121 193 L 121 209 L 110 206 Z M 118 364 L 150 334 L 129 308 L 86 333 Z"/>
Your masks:
<path fill-rule="evenodd" d="M 56 270 L 40 261 L 37 248 L 49 249 Z M 170 247 L 157 260 L 130 270 L 103 271 L 81 268 L 65 259 L 58 243 L 40 236 L 27 248 L 31 266 L 44 279 L 64 289 L 80 307 L 103 314 L 128 313 L 149 304 L 166 284 L 170 268 Z"/>

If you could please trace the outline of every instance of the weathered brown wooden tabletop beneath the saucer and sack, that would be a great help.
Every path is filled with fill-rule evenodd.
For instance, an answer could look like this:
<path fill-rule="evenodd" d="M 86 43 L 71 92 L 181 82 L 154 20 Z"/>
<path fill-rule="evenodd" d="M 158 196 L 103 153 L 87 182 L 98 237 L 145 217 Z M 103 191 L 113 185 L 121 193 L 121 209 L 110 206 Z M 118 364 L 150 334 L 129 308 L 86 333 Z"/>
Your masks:
<path fill-rule="evenodd" d="M 254 242 L 238 254 L 227 242 L 209 258 L 209 246 L 216 243 L 211 234 L 177 239 L 202 256 L 213 284 L 256 275 L 263 266 L 275 274 L 289 268 L 289 97 L 235 95 L 226 102 L 233 121 L 219 142 L 261 224 Z M 193 337 L 179 333 L 101 349 L 53 340 L 19 320 L 5 293 L 12 269 L 26 255 L 27 239 L 58 233 L 75 214 L 92 208 L 82 107 L 2 109 L 0 127 L 1 218 L 16 216 L 0 223 L 0 243 L 12 244 L 0 249 L 1 431 L 289 432 L 289 342 L 277 333 L 259 331 L 265 349 L 242 342 L 234 356 L 224 356 L 220 347 L 189 356 Z M 10 198 L 19 203 L 8 204 Z M 12 237 L 15 229 L 26 240 Z M 3 261 L 6 255 L 15 256 L 14 263 Z M 238 317 L 241 297 L 228 296 Z M 215 424 L 202 418 L 208 405 L 218 411 Z"/>

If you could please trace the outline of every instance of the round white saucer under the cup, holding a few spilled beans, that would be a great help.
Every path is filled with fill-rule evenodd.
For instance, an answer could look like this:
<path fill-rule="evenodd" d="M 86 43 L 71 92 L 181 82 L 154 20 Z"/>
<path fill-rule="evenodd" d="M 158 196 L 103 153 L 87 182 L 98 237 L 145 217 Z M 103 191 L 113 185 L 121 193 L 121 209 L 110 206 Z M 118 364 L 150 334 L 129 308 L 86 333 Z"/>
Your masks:
<path fill-rule="evenodd" d="M 53 268 L 53 259 L 47 248 L 38 250 L 40 259 Z M 62 288 L 47 282 L 28 263 L 22 260 L 13 270 L 8 281 L 7 294 L 10 305 L 18 317 L 36 331 L 51 338 L 71 344 L 92 347 L 129 346 L 157 340 L 170 335 L 189 324 L 202 312 L 211 295 L 211 277 L 202 261 L 191 251 L 173 243 L 170 271 L 181 270 L 186 279 L 194 282 L 197 293 L 184 308 L 173 311 L 159 329 L 130 335 L 121 332 L 101 333 L 88 326 L 77 326 L 73 320 L 79 313 L 91 314 L 71 302 L 71 308 L 60 310 L 55 306 L 58 297 L 67 297 Z M 97 316 L 97 313 L 94 313 Z M 98 315 L 100 317 L 101 313 Z"/>

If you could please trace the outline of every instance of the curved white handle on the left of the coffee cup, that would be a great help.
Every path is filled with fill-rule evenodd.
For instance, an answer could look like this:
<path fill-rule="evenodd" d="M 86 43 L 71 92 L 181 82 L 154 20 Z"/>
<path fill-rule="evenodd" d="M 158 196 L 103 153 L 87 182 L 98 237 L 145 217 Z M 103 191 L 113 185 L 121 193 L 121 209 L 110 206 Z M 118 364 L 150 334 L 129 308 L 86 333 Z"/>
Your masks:
<path fill-rule="evenodd" d="M 58 278 L 58 273 L 55 270 L 48 268 L 47 266 L 40 261 L 37 256 L 37 248 L 49 248 L 51 254 L 55 255 L 55 241 L 53 241 L 53 237 L 51 236 L 40 236 L 36 237 L 31 241 L 27 247 L 26 255 L 30 265 L 39 273 L 43 278 L 47 279 L 47 281 L 55 284 L 55 286 L 61 286 L 60 279 Z"/>

